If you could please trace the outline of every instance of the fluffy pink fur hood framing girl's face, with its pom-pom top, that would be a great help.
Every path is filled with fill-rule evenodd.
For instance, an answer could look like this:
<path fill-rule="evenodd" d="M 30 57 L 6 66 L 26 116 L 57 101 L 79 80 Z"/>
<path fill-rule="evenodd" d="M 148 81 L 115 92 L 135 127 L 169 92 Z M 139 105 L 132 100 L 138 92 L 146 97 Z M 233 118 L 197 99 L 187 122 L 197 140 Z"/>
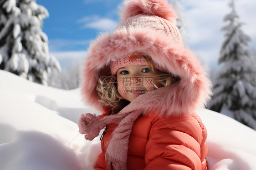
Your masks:
<path fill-rule="evenodd" d="M 130 2 L 135 1 L 150 2 L 151 7 L 147 7 L 150 9 L 154 7 L 152 4 L 159 2 L 158 7 L 153 9 L 158 9 L 157 14 L 161 15 L 145 14 L 136 10 L 136 5 L 135 7 L 129 6 Z M 123 55 L 137 51 L 150 56 L 154 63 L 164 68 L 165 71 L 180 77 L 180 80 L 166 88 L 168 91 L 165 91 L 158 99 L 164 114 L 188 114 L 192 110 L 204 107 L 210 100 L 211 83 L 195 55 L 189 49 L 184 48 L 181 40 L 177 40 L 179 37 L 167 33 L 166 29 L 163 31 L 145 26 L 148 18 L 149 20 L 161 20 L 161 22 L 162 20 L 165 22 L 172 20 L 170 16 L 175 15 L 167 15 L 166 7 L 162 7 L 164 12 L 159 12 L 162 4 L 163 0 L 129 0 L 125 3 L 127 8 L 123 10 L 122 16 L 125 20 L 121 22 L 118 28 L 112 33 L 99 35 L 92 42 L 89 47 L 90 55 L 86 58 L 85 69 L 82 74 L 82 95 L 87 105 L 99 111 L 106 111 L 106 108 L 98 101 L 100 98 L 96 90 L 97 80 L 103 75 L 111 75 L 109 68 L 111 60 L 117 60 Z M 139 9 L 143 9 L 145 5 L 148 4 L 137 3 Z M 136 12 L 131 13 L 131 10 Z M 171 12 L 174 13 L 174 11 Z M 168 20 L 164 19 L 163 15 Z M 138 24 L 138 22 L 136 24 L 134 22 L 131 22 L 132 24 L 127 23 L 127 20 L 133 19 L 146 21 L 142 24 Z M 150 100 L 152 99 L 149 98 L 148 102 Z M 154 108 L 154 104 L 152 108 Z M 149 110 L 152 108 L 148 105 L 141 105 L 138 109 Z"/>

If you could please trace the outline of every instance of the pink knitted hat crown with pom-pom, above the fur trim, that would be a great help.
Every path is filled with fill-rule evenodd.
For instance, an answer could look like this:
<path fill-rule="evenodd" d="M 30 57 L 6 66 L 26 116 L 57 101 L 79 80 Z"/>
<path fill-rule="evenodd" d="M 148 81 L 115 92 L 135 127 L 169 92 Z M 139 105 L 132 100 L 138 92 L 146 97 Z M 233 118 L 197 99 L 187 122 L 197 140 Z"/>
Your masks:
<path fill-rule="evenodd" d="M 182 43 L 176 26 L 177 14 L 166 0 L 126 0 L 122 10 L 120 15 L 123 20 L 116 30 L 131 26 L 134 29 L 144 27 L 169 36 L 170 44 Z"/>

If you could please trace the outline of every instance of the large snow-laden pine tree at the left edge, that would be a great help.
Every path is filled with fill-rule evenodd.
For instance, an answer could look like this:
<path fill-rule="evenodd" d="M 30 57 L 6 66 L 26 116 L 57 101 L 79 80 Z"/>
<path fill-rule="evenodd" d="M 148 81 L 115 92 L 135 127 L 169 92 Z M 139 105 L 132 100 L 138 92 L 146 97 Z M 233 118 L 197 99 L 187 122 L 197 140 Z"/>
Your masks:
<path fill-rule="evenodd" d="M 48 11 L 36 0 L 0 0 L 0 69 L 47 85 L 51 70 L 61 70 L 49 56 L 48 37 L 42 32 Z"/>

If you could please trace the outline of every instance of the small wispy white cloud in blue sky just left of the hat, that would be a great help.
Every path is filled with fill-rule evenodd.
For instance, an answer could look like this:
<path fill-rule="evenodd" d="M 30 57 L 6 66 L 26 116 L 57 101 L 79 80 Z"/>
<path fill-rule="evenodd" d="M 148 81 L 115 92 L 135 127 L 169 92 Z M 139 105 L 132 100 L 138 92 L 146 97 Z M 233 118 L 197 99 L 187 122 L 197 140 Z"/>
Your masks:
<path fill-rule="evenodd" d="M 82 23 L 82 29 L 92 28 L 96 30 L 114 30 L 118 26 L 118 22 L 109 18 L 100 18 L 98 15 L 86 16 L 77 20 Z"/>

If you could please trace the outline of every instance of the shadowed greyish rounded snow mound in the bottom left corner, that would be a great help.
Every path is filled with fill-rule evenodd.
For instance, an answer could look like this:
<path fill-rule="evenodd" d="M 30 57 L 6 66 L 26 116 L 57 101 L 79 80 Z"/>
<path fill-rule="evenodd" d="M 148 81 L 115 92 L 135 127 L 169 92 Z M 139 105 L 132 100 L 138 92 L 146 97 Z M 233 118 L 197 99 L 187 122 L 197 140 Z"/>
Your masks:
<path fill-rule="evenodd" d="M 75 152 L 51 135 L 20 132 L 15 142 L 0 145 L 1 170 L 80 170 Z"/>

